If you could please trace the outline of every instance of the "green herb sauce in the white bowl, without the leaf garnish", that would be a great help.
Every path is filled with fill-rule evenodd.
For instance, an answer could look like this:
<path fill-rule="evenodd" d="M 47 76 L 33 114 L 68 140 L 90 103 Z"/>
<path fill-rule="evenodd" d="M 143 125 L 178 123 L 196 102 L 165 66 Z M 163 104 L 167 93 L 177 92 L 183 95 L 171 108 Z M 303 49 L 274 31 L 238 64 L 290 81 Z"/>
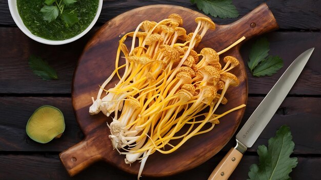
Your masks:
<path fill-rule="evenodd" d="M 17 8 L 29 31 L 49 40 L 65 40 L 80 34 L 91 24 L 98 8 L 98 0 L 78 0 L 68 8 L 77 12 L 79 21 L 67 27 L 61 16 L 51 22 L 43 19 L 40 10 L 44 7 L 44 2 L 44 0 L 17 0 Z"/>

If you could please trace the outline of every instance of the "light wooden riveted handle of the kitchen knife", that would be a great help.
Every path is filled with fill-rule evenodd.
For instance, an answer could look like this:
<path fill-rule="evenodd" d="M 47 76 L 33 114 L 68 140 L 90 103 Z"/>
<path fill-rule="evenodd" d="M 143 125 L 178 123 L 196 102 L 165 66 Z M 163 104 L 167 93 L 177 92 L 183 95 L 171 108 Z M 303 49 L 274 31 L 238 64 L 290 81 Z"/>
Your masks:
<path fill-rule="evenodd" d="M 228 179 L 240 160 L 243 154 L 235 148 L 231 148 L 230 151 L 224 156 L 223 160 L 219 162 L 214 171 L 211 173 L 208 180 L 224 180 Z"/>

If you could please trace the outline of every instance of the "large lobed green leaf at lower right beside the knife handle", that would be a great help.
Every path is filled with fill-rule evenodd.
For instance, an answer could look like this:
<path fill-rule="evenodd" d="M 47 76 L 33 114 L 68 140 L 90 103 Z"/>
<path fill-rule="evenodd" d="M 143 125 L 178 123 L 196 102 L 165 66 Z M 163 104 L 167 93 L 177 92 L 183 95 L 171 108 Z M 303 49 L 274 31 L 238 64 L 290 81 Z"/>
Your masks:
<path fill-rule="evenodd" d="M 290 128 L 281 126 L 268 144 L 268 148 L 258 146 L 259 164 L 250 166 L 250 180 L 290 179 L 289 173 L 297 165 L 297 158 L 290 158 L 294 149 Z"/>

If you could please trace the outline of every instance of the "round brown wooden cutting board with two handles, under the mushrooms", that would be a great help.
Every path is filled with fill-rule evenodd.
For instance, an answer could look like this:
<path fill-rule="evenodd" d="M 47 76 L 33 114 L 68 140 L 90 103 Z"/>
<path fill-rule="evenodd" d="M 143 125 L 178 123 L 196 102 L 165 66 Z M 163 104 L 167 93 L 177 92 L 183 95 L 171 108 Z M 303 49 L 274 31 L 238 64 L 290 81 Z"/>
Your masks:
<path fill-rule="evenodd" d="M 143 20 L 159 21 L 167 18 L 171 13 L 177 13 L 183 17 L 183 27 L 188 33 L 193 32 L 197 26 L 194 19 L 198 16 L 205 16 L 179 6 L 145 6 L 118 15 L 106 22 L 88 42 L 78 61 L 72 86 L 74 113 L 85 134 L 85 139 L 59 154 L 71 176 L 99 160 L 106 161 L 129 173 L 138 173 L 140 163 L 135 162 L 131 166 L 125 164 L 125 155 L 120 155 L 112 148 L 108 138 L 110 132 L 106 125 L 106 122 L 111 122 L 111 118 L 107 118 L 102 113 L 90 116 L 88 110 L 92 104 L 91 97 L 96 98 L 97 96 L 98 85 L 102 84 L 114 70 L 118 40 L 127 32 L 134 31 Z M 209 47 L 219 52 L 242 36 L 248 40 L 277 28 L 272 13 L 267 5 L 263 4 L 230 25 L 216 25 L 216 30 L 207 32 L 196 51 L 199 52 L 202 48 Z M 226 98 L 229 102 L 220 106 L 218 113 L 247 102 L 247 75 L 245 64 L 239 54 L 239 47 L 238 45 L 220 55 L 220 59 L 226 55 L 232 55 L 240 60 L 240 65 L 232 71 L 240 80 L 240 84 L 228 89 Z M 106 88 L 114 86 L 116 82 L 117 79 L 114 79 Z M 150 155 L 143 170 L 143 176 L 172 175 L 204 163 L 232 138 L 242 120 L 244 111 L 245 108 L 220 118 L 220 124 L 212 131 L 193 137 L 171 154 L 155 152 Z"/>

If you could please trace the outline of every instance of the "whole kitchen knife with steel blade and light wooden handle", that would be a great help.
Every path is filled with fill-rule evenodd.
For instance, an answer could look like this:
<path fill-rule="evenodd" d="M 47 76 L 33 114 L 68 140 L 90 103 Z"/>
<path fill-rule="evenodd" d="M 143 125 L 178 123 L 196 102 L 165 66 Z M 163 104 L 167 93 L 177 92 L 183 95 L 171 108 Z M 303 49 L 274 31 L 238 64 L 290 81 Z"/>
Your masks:
<path fill-rule="evenodd" d="M 290 92 L 290 89 L 304 69 L 313 50 L 314 48 L 306 50 L 290 64 L 289 68 L 278 79 L 267 96 L 257 106 L 253 114 L 236 134 L 236 146 L 231 148 L 223 160 L 219 162 L 208 180 L 228 179 L 230 177 L 242 159 L 246 149 L 252 147 Z"/>

